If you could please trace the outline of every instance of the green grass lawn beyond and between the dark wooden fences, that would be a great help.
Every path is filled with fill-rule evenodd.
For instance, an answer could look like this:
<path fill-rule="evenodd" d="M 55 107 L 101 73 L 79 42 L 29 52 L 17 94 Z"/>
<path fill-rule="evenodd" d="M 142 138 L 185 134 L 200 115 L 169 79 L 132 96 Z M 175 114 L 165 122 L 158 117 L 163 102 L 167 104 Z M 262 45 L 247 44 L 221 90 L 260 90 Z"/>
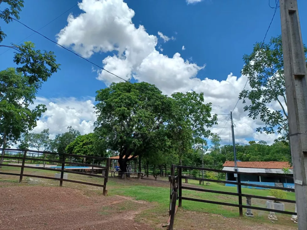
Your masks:
<path fill-rule="evenodd" d="M 2 167 L 0 171 L 6 171 L 6 172 L 14 172 L 19 173 L 20 168 L 16 167 Z M 24 169 L 25 174 L 37 174 L 37 175 L 46 175 L 46 176 L 54 176 L 53 171 L 46 171 L 46 170 L 33 170 L 33 169 Z M 0 175 L 2 176 L 2 175 Z M 92 183 L 103 183 L 102 178 L 97 177 L 89 177 L 89 176 L 83 176 L 78 174 L 69 174 L 69 179 L 73 180 L 81 180 L 86 182 L 92 182 Z M 160 178 L 158 178 L 160 179 Z M 1 177 L 0 182 L 8 182 L 8 183 L 17 183 L 19 180 L 19 177 L 17 176 L 6 176 Z M 147 182 L 149 180 L 152 180 L 150 178 L 142 179 L 142 180 L 133 180 L 133 181 L 126 181 L 121 180 L 117 177 L 115 178 L 109 178 L 109 181 L 107 183 L 107 190 L 108 195 L 114 196 L 114 195 L 122 195 L 122 196 L 129 196 L 133 197 L 136 200 L 144 200 L 148 201 L 153 204 L 153 207 L 151 209 L 148 209 L 141 214 L 139 214 L 139 218 L 146 217 L 147 220 L 151 220 L 153 223 L 157 222 L 158 216 L 165 215 L 169 209 L 169 187 L 167 186 L 168 183 L 160 182 L 161 185 L 159 185 L 159 182 L 156 183 L 155 186 L 152 186 L 150 183 L 144 183 L 145 180 Z M 45 186 L 58 186 L 58 181 L 53 180 L 44 180 L 46 181 Z M 184 183 L 185 180 L 183 180 L 182 185 L 186 185 Z M 211 190 L 218 190 L 218 191 L 227 191 L 227 192 L 234 192 L 236 193 L 236 187 L 230 187 L 225 186 L 223 184 L 218 183 L 211 183 L 209 186 L 206 185 L 199 185 L 199 182 L 196 180 L 190 180 L 188 179 L 189 184 L 194 184 L 194 186 L 199 186 L 206 189 Z M 28 186 L 26 183 L 23 183 L 22 185 Z M 39 186 L 39 185 L 35 185 Z M 86 195 L 91 194 L 102 194 L 101 189 L 98 187 L 93 186 L 85 186 L 75 183 L 69 183 L 69 182 L 63 182 L 63 186 L 77 188 L 77 189 L 83 189 L 86 190 Z M 90 190 L 87 190 L 88 188 L 91 188 Z M 258 196 L 268 196 L 270 195 L 269 190 L 261 190 L 261 189 L 248 189 L 248 188 L 242 188 L 242 193 L 244 194 L 252 194 L 252 195 L 258 195 Z M 220 202 L 229 202 L 233 204 L 238 204 L 238 197 L 237 196 L 230 196 L 230 195 L 224 195 L 224 194 L 214 194 L 214 193 L 206 193 L 206 192 L 198 192 L 198 191 L 192 191 L 192 190 L 183 190 L 182 196 L 184 197 L 193 197 L 198 199 L 204 199 L 204 200 L 211 200 L 211 201 L 220 201 Z M 287 192 L 286 199 L 289 200 L 295 200 L 295 194 Z M 266 207 L 265 205 L 266 200 L 264 199 L 255 199 L 252 198 L 252 205 L 259 206 L 259 207 Z M 245 198 L 243 197 L 243 204 L 246 203 Z M 178 203 L 177 203 L 178 204 Z M 291 203 L 286 203 L 286 210 L 287 211 L 294 211 L 295 205 Z M 220 214 L 225 217 L 239 217 L 239 208 L 231 207 L 231 206 L 224 206 L 224 205 L 215 205 L 215 204 L 209 204 L 209 203 L 202 203 L 202 202 L 196 202 L 196 201 L 182 201 L 182 209 L 181 210 L 189 210 L 189 211 L 196 211 L 196 212 L 202 212 L 202 213 L 214 213 L 214 214 Z M 243 212 L 246 210 L 243 209 Z M 255 218 L 248 218 L 243 217 L 247 219 L 247 221 L 256 221 L 256 222 L 268 222 L 267 220 L 267 214 L 268 212 L 265 211 L 258 211 L 253 210 L 253 213 L 255 215 Z M 285 220 L 286 224 L 291 224 L 289 222 L 290 215 L 284 215 L 284 214 L 276 214 L 279 218 L 279 220 Z M 163 217 L 165 218 L 165 217 Z M 279 223 L 281 223 L 279 221 Z"/>

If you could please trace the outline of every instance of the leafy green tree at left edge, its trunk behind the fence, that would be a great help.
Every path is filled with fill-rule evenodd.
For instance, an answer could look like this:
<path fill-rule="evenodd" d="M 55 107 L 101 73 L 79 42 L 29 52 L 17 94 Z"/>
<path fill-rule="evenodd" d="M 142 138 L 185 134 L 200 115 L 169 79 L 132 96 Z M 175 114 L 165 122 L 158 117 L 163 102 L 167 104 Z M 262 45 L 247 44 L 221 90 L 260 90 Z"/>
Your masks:
<path fill-rule="evenodd" d="M 37 89 L 15 68 L 0 71 L 0 136 L 2 156 L 7 143 L 14 144 L 22 133 L 31 131 L 46 111 L 43 104 L 30 109 Z M 3 162 L 3 158 L 0 163 Z"/>

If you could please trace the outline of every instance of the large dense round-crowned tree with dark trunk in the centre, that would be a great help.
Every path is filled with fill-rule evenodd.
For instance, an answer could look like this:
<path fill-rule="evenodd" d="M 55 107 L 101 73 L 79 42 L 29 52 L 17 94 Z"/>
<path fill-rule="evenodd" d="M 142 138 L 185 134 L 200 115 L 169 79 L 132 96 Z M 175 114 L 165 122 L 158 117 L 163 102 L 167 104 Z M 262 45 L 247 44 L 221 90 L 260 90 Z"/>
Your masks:
<path fill-rule="evenodd" d="M 126 172 L 129 160 L 165 146 L 165 123 L 171 99 L 146 82 L 112 83 L 96 95 L 95 133 L 119 153 L 119 165 Z M 132 156 L 128 159 L 129 156 Z"/>

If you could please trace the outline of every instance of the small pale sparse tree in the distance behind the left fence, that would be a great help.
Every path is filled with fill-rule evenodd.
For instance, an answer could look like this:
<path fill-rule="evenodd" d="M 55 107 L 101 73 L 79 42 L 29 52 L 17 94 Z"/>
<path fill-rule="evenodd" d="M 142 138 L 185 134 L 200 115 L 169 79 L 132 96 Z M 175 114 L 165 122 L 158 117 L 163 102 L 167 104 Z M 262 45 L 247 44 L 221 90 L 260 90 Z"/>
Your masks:
<path fill-rule="evenodd" d="M 43 151 L 49 144 L 49 128 L 40 133 L 30 132 L 25 134 L 24 141 L 29 143 L 29 147 L 36 148 L 37 151 Z"/>

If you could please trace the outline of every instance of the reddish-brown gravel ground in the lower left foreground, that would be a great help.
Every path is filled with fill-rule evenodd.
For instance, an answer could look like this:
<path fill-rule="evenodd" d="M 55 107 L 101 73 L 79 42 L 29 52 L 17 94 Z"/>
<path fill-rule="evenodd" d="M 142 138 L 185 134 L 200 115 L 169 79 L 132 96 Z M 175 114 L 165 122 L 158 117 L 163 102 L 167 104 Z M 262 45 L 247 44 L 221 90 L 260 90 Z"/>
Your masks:
<path fill-rule="evenodd" d="M 42 186 L 2 187 L 0 194 L 0 229 L 154 229 L 134 221 L 135 215 L 148 205 L 124 197 L 87 197 L 80 190 Z M 101 212 L 103 208 L 108 210 L 106 206 L 127 200 L 137 205 L 132 210 L 119 209 L 110 215 Z"/>

